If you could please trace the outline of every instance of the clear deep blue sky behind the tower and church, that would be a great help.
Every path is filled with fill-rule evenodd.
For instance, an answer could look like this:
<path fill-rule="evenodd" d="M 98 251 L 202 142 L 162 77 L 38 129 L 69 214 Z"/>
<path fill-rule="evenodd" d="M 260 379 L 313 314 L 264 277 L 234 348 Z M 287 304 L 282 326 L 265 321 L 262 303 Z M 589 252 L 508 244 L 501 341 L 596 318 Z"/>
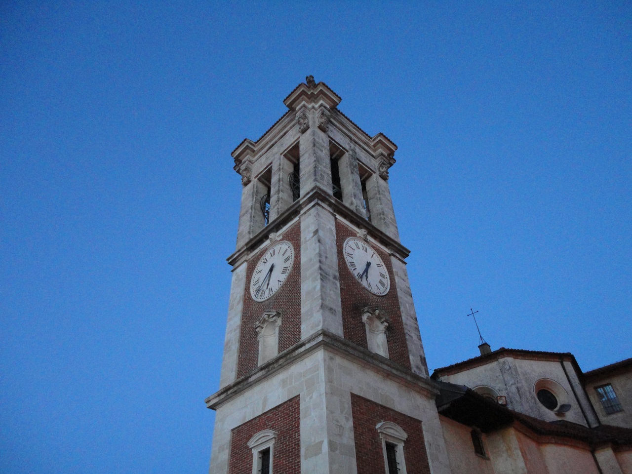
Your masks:
<path fill-rule="evenodd" d="M 632 7 L 0 4 L 0 471 L 204 473 L 240 176 L 306 75 L 399 147 L 430 369 L 632 356 Z"/>

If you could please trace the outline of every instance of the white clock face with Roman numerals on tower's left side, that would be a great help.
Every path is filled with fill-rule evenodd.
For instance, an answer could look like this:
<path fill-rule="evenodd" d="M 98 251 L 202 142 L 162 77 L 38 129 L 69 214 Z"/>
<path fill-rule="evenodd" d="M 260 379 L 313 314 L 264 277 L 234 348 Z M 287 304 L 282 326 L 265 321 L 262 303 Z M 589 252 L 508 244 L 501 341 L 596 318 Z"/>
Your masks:
<path fill-rule="evenodd" d="M 292 271 L 294 248 L 288 241 L 271 246 L 259 259 L 250 279 L 250 296 L 264 301 L 274 295 Z"/>

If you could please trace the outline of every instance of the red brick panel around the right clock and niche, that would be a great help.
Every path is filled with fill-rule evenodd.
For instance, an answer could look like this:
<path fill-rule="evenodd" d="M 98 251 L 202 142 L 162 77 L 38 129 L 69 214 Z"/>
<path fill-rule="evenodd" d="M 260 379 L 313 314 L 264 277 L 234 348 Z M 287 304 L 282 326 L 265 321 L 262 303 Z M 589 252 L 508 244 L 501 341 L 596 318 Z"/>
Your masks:
<path fill-rule="evenodd" d="M 391 276 L 391 289 L 384 296 L 377 296 L 370 293 L 351 274 L 344 260 L 343 245 L 349 237 L 356 237 L 357 231 L 348 228 L 341 221 L 336 220 L 336 245 L 338 251 L 338 272 L 340 274 L 340 296 L 343 307 L 343 332 L 344 338 L 349 341 L 368 348 L 367 332 L 362 322 L 362 308 L 367 306 L 377 306 L 384 311 L 390 319 L 386 332 L 386 339 L 389 344 L 389 358 L 394 362 L 410 369 L 410 358 L 408 356 L 408 346 L 404 325 L 401 321 L 399 310 L 399 299 L 395 288 L 395 279 L 391 265 L 391 257 L 373 245 L 380 258 L 384 260 L 389 275 Z"/>

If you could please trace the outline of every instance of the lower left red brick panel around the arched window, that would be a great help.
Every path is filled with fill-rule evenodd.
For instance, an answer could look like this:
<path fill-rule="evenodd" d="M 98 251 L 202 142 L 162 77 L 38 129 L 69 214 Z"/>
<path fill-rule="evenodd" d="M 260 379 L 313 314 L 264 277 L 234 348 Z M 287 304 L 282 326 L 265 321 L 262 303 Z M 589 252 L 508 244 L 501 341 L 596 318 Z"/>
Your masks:
<path fill-rule="evenodd" d="M 229 474 L 252 473 L 252 450 L 248 441 L 262 430 L 276 431 L 272 472 L 298 474 L 301 471 L 301 402 L 295 396 L 262 415 L 233 428 Z"/>

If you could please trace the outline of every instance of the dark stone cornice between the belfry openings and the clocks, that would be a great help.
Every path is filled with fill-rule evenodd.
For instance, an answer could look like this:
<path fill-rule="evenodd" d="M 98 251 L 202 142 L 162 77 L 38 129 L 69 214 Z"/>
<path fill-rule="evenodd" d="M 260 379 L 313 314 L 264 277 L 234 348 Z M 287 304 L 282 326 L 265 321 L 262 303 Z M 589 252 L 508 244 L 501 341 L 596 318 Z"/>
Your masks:
<path fill-rule="evenodd" d="M 241 248 L 238 248 L 236 252 L 231 254 L 226 260 L 229 265 L 233 267 L 240 264 L 243 260 L 250 256 L 250 253 L 255 250 L 262 241 L 266 240 L 270 233 L 279 233 L 281 229 L 288 225 L 289 221 L 307 210 L 312 205 L 322 205 L 323 207 L 331 210 L 334 214 L 343 217 L 349 223 L 355 225 L 360 229 L 367 229 L 368 234 L 380 245 L 385 248 L 389 248 L 391 253 L 398 257 L 400 260 L 404 260 L 410 255 L 410 250 L 404 247 L 391 236 L 380 231 L 374 224 L 367 221 L 363 217 L 360 217 L 355 211 L 343 204 L 340 200 L 332 197 L 329 193 L 320 189 L 319 187 L 313 188 L 307 193 L 305 197 L 301 197 L 294 202 L 276 217 L 276 219 L 270 221 L 270 223 L 263 229 L 258 231 L 250 240 L 248 240 Z"/>

